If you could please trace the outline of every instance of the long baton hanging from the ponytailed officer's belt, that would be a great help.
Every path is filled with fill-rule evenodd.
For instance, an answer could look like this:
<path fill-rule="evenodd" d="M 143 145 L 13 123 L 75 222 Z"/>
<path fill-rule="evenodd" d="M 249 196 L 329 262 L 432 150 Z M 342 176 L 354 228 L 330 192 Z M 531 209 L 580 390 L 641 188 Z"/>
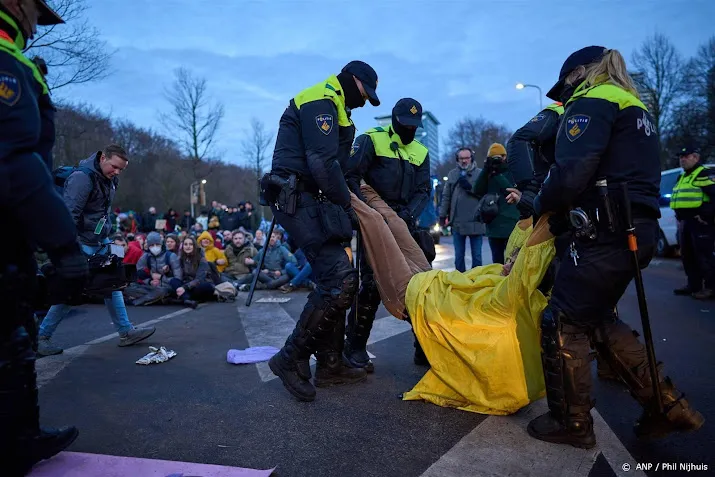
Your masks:
<path fill-rule="evenodd" d="M 650 367 L 650 380 L 653 384 L 653 393 L 658 403 L 658 412 L 663 414 L 663 399 L 660 396 L 660 382 L 658 379 L 658 368 L 655 360 L 655 347 L 653 346 L 653 334 L 650 329 L 650 318 L 648 317 L 648 305 L 645 298 L 645 288 L 643 287 L 643 275 L 638 263 L 638 240 L 636 239 L 636 228 L 633 225 L 631 214 L 631 201 L 628 197 L 628 184 L 621 183 L 623 191 L 623 206 L 626 219 L 626 233 L 628 235 L 628 249 L 633 253 L 633 271 L 636 282 L 636 293 L 638 294 L 638 308 L 641 313 L 643 323 L 643 336 L 645 338 L 646 352 L 648 353 L 648 365 Z"/>

